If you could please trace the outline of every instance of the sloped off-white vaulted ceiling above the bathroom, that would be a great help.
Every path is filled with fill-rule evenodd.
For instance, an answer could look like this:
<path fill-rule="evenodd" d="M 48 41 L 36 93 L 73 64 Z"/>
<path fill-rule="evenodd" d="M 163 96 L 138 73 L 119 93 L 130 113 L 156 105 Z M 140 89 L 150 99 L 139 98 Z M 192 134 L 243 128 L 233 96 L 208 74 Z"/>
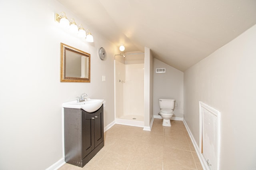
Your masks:
<path fill-rule="evenodd" d="M 185 71 L 256 24 L 256 0 L 58 0 L 126 52 Z M 93 28 L 93 29 L 92 29 Z"/>

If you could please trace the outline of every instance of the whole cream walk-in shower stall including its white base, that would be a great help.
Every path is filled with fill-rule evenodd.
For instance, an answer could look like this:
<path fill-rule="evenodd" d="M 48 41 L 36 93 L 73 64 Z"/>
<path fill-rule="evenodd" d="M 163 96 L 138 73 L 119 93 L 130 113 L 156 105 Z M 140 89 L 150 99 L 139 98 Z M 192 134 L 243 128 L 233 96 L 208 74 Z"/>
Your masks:
<path fill-rule="evenodd" d="M 144 127 L 144 53 L 115 55 L 116 123 Z"/>

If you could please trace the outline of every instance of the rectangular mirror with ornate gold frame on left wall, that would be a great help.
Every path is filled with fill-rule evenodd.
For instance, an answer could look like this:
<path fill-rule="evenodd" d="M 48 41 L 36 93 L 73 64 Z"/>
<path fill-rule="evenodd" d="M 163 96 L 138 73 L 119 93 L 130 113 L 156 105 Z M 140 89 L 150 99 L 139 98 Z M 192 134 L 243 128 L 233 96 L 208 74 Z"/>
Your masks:
<path fill-rule="evenodd" d="M 60 82 L 90 82 L 91 55 L 60 43 Z"/>

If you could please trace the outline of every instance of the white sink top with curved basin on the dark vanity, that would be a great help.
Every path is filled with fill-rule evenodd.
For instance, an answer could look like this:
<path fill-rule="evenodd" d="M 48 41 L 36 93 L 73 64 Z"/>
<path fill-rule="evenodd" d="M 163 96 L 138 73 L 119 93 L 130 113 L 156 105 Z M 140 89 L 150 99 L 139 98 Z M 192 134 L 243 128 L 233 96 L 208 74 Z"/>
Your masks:
<path fill-rule="evenodd" d="M 74 109 L 83 109 L 87 112 L 94 112 L 100 109 L 101 105 L 103 104 L 102 99 L 85 99 L 85 101 L 77 102 L 70 101 L 66 103 L 62 103 L 62 107 L 66 108 L 74 108 Z"/>

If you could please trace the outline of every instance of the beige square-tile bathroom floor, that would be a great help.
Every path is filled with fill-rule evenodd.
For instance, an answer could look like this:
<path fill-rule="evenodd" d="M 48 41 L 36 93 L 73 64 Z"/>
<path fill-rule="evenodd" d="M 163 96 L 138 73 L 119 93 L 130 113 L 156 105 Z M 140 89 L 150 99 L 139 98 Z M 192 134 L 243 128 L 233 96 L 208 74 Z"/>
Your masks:
<path fill-rule="evenodd" d="M 171 124 L 163 127 L 162 119 L 154 119 L 151 131 L 116 124 L 83 168 L 64 164 L 59 170 L 202 170 L 183 122 Z"/>

